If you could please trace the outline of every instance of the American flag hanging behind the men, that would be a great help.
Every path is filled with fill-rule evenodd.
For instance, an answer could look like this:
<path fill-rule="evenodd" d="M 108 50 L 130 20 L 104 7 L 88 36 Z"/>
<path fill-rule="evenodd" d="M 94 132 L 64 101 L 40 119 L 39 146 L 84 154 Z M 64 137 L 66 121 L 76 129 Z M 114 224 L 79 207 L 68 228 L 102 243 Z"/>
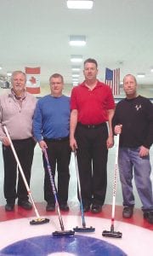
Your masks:
<path fill-rule="evenodd" d="M 105 68 L 105 84 L 111 87 L 113 95 L 120 94 L 120 68 L 111 70 L 110 68 Z"/>

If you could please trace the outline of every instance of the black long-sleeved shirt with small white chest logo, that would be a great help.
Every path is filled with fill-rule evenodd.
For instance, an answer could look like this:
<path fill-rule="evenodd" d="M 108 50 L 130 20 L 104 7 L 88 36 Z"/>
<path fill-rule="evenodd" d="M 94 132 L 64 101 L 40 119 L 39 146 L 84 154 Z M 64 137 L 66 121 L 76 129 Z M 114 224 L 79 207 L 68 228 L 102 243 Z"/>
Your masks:
<path fill-rule="evenodd" d="M 123 99 L 116 105 L 113 127 L 122 125 L 120 147 L 150 148 L 153 143 L 153 105 L 143 96 Z"/>

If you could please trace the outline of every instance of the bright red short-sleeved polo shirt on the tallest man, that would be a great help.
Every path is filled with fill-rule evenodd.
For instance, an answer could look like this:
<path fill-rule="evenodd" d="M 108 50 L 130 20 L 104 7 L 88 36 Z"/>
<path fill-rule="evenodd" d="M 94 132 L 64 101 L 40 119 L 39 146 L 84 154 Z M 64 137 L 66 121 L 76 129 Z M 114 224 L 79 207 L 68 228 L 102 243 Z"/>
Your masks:
<path fill-rule="evenodd" d="M 77 109 L 78 122 L 83 125 L 98 125 L 108 121 L 107 110 L 114 108 L 111 88 L 99 80 L 94 90 L 88 89 L 83 82 L 71 91 L 71 110 Z"/>

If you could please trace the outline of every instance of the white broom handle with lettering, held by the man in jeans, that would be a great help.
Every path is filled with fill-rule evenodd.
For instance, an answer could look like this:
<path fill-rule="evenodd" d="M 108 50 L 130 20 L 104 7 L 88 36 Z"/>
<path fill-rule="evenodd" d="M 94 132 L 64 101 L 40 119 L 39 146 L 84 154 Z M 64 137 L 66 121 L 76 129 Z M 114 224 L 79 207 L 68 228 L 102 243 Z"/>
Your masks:
<path fill-rule="evenodd" d="M 116 160 L 115 160 L 115 170 L 114 170 L 114 183 L 113 183 L 113 197 L 112 197 L 112 212 L 111 221 L 114 222 L 115 218 L 115 206 L 116 206 L 116 177 L 118 172 L 118 149 L 120 142 L 120 134 L 116 135 Z"/>

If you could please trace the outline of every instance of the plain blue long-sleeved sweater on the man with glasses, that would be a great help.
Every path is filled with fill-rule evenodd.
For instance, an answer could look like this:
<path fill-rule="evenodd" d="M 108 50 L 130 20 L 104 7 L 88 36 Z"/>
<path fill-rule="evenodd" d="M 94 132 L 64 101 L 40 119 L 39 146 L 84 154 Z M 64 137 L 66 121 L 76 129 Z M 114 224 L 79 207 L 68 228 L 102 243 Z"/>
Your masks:
<path fill-rule="evenodd" d="M 33 133 L 37 142 L 45 138 L 69 136 L 70 97 L 44 96 L 37 102 L 33 118 Z"/>

